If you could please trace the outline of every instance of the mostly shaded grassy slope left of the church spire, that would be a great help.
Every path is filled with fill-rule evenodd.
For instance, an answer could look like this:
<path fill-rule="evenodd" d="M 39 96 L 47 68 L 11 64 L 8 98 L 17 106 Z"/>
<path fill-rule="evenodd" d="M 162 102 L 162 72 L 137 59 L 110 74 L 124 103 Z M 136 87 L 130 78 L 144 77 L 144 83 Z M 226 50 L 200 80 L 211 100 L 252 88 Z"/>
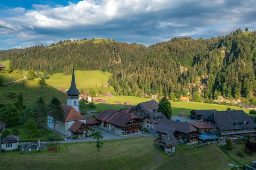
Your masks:
<path fill-rule="evenodd" d="M 25 105 L 34 104 L 36 99 L 40 96 L 45 99 L 45 104 L 49 104 L 53 97 L 57 97 L 61 103 L 67 104 L 67 96 L 64 93 L 52 86 L 40 85 L 38 83 L 38 78 L 32 81 L 25 79 L 17 83 L 11 83 L 0 87 L 0 103 L 7 104 L 17 102 L 17 97 L 14 99 L 8 97 L 9 91 L 15 91 L 16 96 L 23 93 Z"/>

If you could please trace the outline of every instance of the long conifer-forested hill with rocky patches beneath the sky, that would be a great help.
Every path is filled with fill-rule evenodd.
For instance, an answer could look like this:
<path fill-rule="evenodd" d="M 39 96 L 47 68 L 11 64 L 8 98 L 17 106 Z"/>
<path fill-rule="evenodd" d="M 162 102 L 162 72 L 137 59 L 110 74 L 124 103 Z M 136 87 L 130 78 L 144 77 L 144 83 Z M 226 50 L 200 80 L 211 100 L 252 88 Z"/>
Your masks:
<path fill-rule="evenodd" d="M 122 42 L 43 45 L 0 51 L 15 69 L 67 72 L 109 71 L 110 84 L 120 95 L 190 95 L 206 102 L 223 95 L 248 99 L 256 90 L 256 32 L 238 29 L 207 40 L 173 38 L 149 47 Z M 201 96 L 196 94 L 200 93 Z"/>

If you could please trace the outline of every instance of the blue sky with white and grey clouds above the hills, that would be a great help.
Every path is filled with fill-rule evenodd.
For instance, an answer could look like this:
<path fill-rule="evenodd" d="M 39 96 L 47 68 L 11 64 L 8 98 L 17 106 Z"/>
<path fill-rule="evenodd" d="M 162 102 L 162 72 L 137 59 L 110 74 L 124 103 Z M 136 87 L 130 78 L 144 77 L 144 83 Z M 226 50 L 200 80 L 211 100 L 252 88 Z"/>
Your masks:
<path fill-rule="evenodd" d="M 110 38 L 149 46 L 256 30 L 256 0 L 0 0 L 0 50 Z"/>

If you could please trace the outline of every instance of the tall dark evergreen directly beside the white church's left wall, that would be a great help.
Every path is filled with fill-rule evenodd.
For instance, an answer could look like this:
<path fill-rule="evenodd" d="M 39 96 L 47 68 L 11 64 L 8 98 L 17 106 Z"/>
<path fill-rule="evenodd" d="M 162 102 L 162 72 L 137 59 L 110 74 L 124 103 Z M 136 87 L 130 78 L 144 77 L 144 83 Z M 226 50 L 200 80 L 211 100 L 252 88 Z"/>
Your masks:
<path fill-rule="evenodd" d="M 49 116 L 52 117 L 50 121 L 53 123 L 53 134 L 55 135 L 55 126 L 58 124 L 58 121 L 62 121 L 64 117 L 61 102 L 56 97 L 54 97 L 49 104 Z"/>

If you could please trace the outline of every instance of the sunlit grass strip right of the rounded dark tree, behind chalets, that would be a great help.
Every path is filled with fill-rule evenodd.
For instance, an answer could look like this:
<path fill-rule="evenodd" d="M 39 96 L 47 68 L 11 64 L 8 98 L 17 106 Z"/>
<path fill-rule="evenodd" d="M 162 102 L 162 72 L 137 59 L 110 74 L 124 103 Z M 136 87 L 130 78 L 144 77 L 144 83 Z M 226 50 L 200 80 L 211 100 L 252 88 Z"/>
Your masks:
<path fill-rule="evenodd" d="M 190 115 L 190 111 L 194 109 L 216 109 L 226 110 L 227 108 L 235 109 L 235 110 L 244 110 L 245 113 L 249 113 L 249 109 L 240 108 L 237 106 L 225 106 L 220 104 L 207 104 L 207 103 L 198 103 L 198 102 L 171 102 L 171 106 L 173 108 L 173 115 L 179 115 L 180 112 L 186 113 L 186 115 Z M 255 116 L 252 114 L 248 114 L 250 116 Z"/>

